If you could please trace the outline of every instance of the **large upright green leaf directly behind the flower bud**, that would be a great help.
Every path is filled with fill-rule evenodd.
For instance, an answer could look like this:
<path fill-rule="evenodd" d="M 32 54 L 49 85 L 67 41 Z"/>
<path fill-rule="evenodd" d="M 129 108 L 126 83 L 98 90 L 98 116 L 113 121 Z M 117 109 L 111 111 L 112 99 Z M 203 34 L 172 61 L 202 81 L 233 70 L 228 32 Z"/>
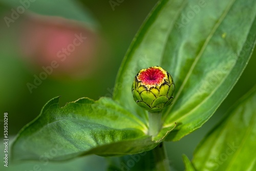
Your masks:
<path fill-rule="evenodd" d="M 255 8 L 254 0 L 159 2 L 127 51 L 113 99 L 147 119 L 133 100 L 132 82 L 141 68 L 160 66 L 173 76 L 176 93 L 155 140 L 163 140 L 175 122 L 166 140 L 198 129 L 246 67 L 256 39 Z"/>

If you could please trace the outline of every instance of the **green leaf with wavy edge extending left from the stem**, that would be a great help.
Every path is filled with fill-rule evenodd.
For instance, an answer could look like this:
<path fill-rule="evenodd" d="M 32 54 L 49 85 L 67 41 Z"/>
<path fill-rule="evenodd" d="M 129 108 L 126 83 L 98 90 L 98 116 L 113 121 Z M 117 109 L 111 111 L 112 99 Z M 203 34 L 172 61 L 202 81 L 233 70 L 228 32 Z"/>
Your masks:
<path fill-rule="evenodd" d="M 147 126 L 110 98 L 81 98 L 62 108 L 58 97 L 18 134 L 12 145 L 14 160 L 66 160 L 97 154 L 126 155 L 148 151 L 157 144 Z"/>

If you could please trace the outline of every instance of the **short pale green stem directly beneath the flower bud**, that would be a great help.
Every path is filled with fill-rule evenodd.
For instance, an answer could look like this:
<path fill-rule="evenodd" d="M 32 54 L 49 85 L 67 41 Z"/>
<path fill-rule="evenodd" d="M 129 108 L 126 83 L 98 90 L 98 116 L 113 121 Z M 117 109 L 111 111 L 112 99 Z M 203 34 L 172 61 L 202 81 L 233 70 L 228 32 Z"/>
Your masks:
<path fill-rule="evenodd" d="M 161 112 L 154 112 L 154 113 L 151 113 L 151 112 L 148 112 L 148 122 L 149 122 L 149 135 L 151 136 L 155 136 L 158 134 L 158 132 L 160 131 L 161 129 L 161 126 L 162 126 L 162 122 L 161 122 L 161 116 L 162 116 L 162 113 Z"/>

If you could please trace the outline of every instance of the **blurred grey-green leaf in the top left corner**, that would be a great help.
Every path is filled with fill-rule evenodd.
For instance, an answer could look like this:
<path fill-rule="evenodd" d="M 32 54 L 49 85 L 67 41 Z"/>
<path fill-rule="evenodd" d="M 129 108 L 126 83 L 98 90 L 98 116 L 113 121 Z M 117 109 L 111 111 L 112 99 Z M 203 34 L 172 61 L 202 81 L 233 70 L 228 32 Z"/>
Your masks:
<path fill-rule="evenodd" d="M 17 8 L 25 9 L 25 12 L 34 12 L 41 15 L 60 16 L 67 19 L 77 20 L 86 23 L 91 28 L 97 27 L 97 22 L 91 12 L 81 4 L 70 0 L 44 0 L 44 1 L 16 1 L 16 0 L 0 0 L 11 9 L 17 11 Z M 23 13 L 20 13 L 23 15 Z"/>

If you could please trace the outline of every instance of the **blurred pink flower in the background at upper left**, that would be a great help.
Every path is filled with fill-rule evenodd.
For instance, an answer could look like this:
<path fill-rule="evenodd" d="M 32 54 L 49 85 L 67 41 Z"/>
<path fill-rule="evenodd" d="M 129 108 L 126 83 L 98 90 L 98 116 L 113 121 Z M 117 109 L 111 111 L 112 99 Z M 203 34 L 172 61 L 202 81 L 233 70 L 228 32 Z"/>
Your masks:
<path fill-rule="evenodd" d="M 97 67 L 99 38 L 74 20 L 30 14 L 24 20 L 20 42 L 32 66 L 40 69 L 56 60 L 54 76 L 84 77 Z"/>

